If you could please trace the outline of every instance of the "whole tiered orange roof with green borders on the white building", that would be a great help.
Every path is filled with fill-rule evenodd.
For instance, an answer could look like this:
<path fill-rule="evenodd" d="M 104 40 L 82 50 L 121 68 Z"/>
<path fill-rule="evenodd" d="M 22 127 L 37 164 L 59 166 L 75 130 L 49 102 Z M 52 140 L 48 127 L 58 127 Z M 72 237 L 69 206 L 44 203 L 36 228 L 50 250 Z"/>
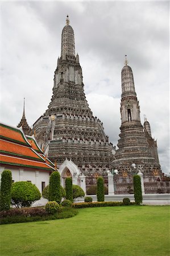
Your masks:
<path fill-rule="evenodd" d="M 0 123 L 0 163 L 40 171 L 54 171 L 55 165 L 43 154 L 34 137 L 27 138 L 19 128 Z"/>

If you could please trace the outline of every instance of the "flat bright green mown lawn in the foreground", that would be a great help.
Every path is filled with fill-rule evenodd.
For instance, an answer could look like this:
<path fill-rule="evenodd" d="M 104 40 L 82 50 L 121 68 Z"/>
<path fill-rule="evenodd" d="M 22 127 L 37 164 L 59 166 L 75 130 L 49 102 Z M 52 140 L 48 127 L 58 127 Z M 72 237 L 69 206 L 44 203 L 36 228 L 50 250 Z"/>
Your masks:
<path fill-rule="evenodd" d="M 73 218 L 1 225 L 1 256 L 168 256 L 169 211 L 169 206 L 86 208 Z"/>

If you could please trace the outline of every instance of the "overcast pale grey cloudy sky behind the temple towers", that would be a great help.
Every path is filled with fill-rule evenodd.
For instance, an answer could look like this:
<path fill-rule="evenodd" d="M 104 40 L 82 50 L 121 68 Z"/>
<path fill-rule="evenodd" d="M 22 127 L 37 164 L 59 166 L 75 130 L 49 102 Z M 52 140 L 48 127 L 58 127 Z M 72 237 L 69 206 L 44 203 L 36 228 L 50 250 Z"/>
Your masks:
<path fill-rule="evenodd" d="M 169 2 L 1 2 L 1 13 L 2 122 L 18 125 L 24 97 L 28 125 L 47 109 L 68 14 L 93 115 L 116 145 L 127 55 L 141 122 L 146 114 L 169 173 Z"/>

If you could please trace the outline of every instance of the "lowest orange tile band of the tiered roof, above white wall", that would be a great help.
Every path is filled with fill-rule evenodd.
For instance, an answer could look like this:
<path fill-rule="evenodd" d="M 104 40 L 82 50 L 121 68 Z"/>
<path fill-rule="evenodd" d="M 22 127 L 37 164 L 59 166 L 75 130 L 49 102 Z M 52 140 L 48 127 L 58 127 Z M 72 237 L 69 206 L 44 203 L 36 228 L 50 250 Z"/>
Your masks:
<path fill-rule="evenodd" d="M 54 171 L 54 168 L 48 166 L 46 163 L 37 162 L 33 160 L 27 160 L 22 158 L 16 158 L 14 156 L 0 155 L 0 161 L 2 164 L 12 165 L 12 166 L 22 166 L 28 168 L 35 168 L 46 171 Z"/>

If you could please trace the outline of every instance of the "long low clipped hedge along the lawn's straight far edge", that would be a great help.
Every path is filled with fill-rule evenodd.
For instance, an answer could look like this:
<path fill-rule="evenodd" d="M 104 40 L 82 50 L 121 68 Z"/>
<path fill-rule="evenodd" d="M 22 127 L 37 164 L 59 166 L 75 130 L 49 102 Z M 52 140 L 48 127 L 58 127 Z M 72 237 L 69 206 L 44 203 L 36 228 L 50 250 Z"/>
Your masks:
<path fill-rule="evenodd" d="M 134 205 L 135 203 L 130 203 Z M 74 208 L 88 208 L 88 207 L 114 207 L 114 206 L 122 206 L 123 202 L 89 202 L 89 203 L 74 203 Z"/>

